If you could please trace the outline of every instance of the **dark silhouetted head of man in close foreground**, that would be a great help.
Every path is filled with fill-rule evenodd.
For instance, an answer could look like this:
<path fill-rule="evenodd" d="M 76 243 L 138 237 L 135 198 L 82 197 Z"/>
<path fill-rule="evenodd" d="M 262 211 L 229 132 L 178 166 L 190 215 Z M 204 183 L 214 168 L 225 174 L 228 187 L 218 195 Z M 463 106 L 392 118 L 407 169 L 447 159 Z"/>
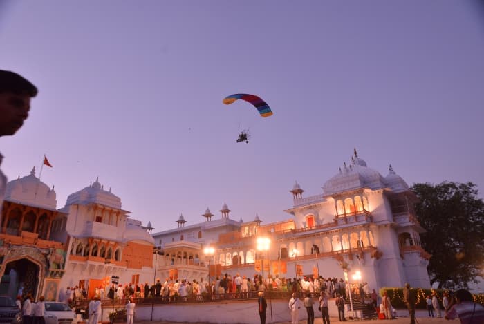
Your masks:
<path fill-rule="evenodd" d="M 0 137 L 17 133 L 28 117 L 30 98 L 36 95 L 37 88 L 30 81 L 15 72 L 0 70 Z M 0 165 L 2 159 L 0 154 Z M 0 224 L 6 184 L 7 177 L 0 170 Z"/>

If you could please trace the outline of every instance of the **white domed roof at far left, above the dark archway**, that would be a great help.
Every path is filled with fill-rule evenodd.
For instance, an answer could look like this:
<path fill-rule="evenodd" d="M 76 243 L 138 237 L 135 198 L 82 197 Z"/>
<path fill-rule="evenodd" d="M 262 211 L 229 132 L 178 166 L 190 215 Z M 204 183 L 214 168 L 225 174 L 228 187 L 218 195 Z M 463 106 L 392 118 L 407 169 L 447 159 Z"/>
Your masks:
<path fill-rule="evenodd" d="M 35 166 L 30 171 L 30 175 L 7 183 L 5 199 L 29 206 L 57 209 L 54 187 L 50 189 L 47 184 L 35 176 Z"/>

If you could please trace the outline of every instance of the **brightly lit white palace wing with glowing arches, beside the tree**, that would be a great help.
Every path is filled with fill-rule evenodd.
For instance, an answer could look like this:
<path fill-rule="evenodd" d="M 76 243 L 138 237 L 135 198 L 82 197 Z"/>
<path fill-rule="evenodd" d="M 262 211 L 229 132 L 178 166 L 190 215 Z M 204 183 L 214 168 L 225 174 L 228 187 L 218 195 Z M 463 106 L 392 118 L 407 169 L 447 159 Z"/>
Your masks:
<path fill-rule="evenodd" d="M 177 228 L 153 234 L 162 254 L 156 276 L 198 280 L 212 265 L 212 280 L 225 273 L 252 278 L 262 271 L 255 267 L 257 260 L 265 259 L 264 276 L 352 280 L 348 274 L 360 271 L 360 280 L 371 289 L 404 283 L 430 287 L 430 255 L 420 246 L 425 229 L 413 209 L 417 198 L 391 166 L 382 176 L 355 151 L 322 193 L 305 197 L 297 183 L 290 193 L 293 204 L 286 212 L 292 217 L 268 225 L 257 216 L 252 222 L 231 220 L 227 204 L 219 217 L 207 208 L 205 221 L 198 224 L 186 225 L 180 216 Z M 258 250 L 260 236 L 270 239 L 268 251 Z M 214 250 L 204 254 L 206 247 Z"/>

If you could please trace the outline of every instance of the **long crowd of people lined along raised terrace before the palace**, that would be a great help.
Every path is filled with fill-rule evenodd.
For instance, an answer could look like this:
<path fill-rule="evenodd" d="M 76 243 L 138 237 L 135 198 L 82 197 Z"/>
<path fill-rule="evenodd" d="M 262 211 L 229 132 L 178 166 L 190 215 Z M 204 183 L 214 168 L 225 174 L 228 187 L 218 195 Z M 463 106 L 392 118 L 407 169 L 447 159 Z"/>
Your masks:
<path fill-rule="evenodd" d="M 303 276 L 301 278 L 281 278 L 279 275 L 268 275 L 262 278 L 259 274 L 254 274 L 253 278 L 241 276 L 240 274 L 224 274 L 217 276 L 214 280 L 200 280 L 180 278 L 171 280 L 165 278 L 161 281 L 156 279 L 153 285 L 143 284 L 111 284 L 111 287 L 99 286 L 95 289 L 95 296 L 100 300 L 124 300 L 129 297 L 133 298 L 161 298 L 164 302 L 172 302 L 188 299 L 203 300 L 204 296 L 217 296 L 216 298 L 255 298 L 257 292 L 274 291 L 274 292 L 295 292 L 298 296 L 310 293 L 319 296 L 324 291 L 329 298 L 336 298 L 338 295 L 346 298 L 349 290 L 353 298 L 364 298 L 367 292 L 366 283 L 345 283 L 342 278 L 313 278 Z M 64 301 L 75 301 L 85 298 L 85 290 L 78 286 L 68 287 Z"/>

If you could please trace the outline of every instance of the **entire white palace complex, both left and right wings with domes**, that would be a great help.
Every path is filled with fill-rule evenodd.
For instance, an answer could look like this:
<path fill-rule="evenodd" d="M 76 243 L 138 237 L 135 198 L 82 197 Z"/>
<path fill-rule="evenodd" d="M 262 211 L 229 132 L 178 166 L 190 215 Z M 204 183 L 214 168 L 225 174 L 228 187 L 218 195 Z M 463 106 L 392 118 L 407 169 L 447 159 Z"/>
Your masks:
<path fill-rule="evenodd" d="M 35 176 L 8 182 L 0 227 L 0 289 L 20 287 L 38 298 L 61 299 L 67 287 L 153 283 L 155 278 L 212 280 L 221 274 L 252 278 L 323 276 L 352 278 L 367 287 L 430 287 L 425 231 L 416 220 L 416 196 L 393 169 L 385 177 L 353 155 L 326 181 L 323 192 L 304 196 L 295 184 L 288 219 L 263 225 L 219 216 L 207 208 L 203 222 L 152 234 L 122 209 L 121 199 L 96 179 L 57 209 L 54 188 Z M 165 218 L 164 216 L 160 216 Z M 259 250 L 256 239 L 270 245 Z M 211 247 L 212 249 L 205 249 Z M 208 252 L 210 251 L 210 252 Z M 261 260 L 265 260 L 261 263 Z M 261 266 L 263 264 L 263 267 Z"/>

